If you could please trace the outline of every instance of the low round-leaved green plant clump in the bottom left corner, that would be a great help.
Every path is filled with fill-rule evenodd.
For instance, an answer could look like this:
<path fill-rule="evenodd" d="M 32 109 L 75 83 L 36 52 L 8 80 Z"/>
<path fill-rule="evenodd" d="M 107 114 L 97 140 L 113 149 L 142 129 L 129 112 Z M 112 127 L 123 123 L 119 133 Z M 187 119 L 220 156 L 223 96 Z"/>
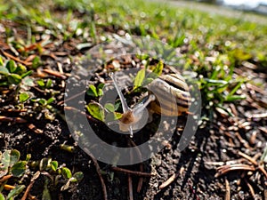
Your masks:
<path fill-rule="evenodd" d="M 43 190 L 43 199 L 50 196 L 49 188 L 54 188 L 61 184 L 61 191 L 71 187 L 72 184 L 79 182 L 83 179 L 83 172 L 76 172 L 72 174 L 65 164 L 59 166 L 57 161 L 52 158 L 43 158 L 39 162 L 29 161 L 30 155 L 26 160 L 20 160 L 20 152 L 16 149 L 5 150 L 4 153 L 0 152 L 0 200 L 12 200 L 26 188 L 26 183 L 18 181 L 18 178 L 25 176 L 27 179 L 29 174 L 32 174 L 31 181 L 38 179 L 39 175 L 44 175 L 45 184 Z M 36 168 L 37 166 L 37 168 Z M 37 169 L 37 171 L 35 171 Z M 10 182 L 18 181 L 19 184 L 15 186 L 8 185 Z M 27 182 L 24 180 L 24 182 Z M 4 191 L 5 188 L 12 188 L 9 192 Z"/>

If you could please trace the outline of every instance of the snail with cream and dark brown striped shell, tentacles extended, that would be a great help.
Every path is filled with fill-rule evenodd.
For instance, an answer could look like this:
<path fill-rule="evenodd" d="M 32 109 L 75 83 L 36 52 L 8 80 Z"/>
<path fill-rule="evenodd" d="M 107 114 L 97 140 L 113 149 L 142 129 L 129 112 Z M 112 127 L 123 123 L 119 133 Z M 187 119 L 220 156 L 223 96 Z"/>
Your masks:
<path fill-rule="evenodd" d="M 158 76 L 147 85 L 148 96 L 129 108 L 123 93 L 118 87 L 114 73 L 110 73 L 117 94 L 122 103 L 123 115 L 117 122 L 109 124 L 119 124 L 122 132 L 130 132 L 133 137 L 134 130 L 139 130 L 144 125 L 142 117 L 146 114 L 147 108 L 151 113 L 163 116 L 181 116 L 190 107 L 189 87 L 182 76 L 178 74 L 167 74 Z M 153 92 L 153 93 L 152 93 Z"/>

